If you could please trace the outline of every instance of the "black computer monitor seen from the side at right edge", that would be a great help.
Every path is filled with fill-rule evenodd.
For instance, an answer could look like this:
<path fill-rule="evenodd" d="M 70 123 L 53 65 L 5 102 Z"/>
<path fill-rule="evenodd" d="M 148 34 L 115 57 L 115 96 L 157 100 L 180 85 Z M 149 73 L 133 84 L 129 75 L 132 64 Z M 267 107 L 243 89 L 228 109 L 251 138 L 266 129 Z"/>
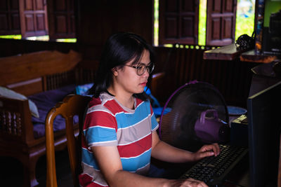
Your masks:
<path fill-rule="evenodd" d="M 277 186 L 281 81 L 247 99 L 251 186 Z"/>

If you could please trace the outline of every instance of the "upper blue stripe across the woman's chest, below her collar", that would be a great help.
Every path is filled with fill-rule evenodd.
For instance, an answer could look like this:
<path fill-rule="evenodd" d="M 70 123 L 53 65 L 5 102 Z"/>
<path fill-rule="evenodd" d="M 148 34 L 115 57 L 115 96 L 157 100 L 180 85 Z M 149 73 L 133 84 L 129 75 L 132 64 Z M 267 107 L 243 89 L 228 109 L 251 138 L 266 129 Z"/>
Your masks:
<path fill-rule="evenodd" d="M 149 106 L 149 107 L 148 107 Z M 148 117 L 150 114 L 150 102 L 143 102 L 135 110 L 135 113 L 117 113 L 116 120 L 118 129 L 130 127 L 141 120 Z"/>

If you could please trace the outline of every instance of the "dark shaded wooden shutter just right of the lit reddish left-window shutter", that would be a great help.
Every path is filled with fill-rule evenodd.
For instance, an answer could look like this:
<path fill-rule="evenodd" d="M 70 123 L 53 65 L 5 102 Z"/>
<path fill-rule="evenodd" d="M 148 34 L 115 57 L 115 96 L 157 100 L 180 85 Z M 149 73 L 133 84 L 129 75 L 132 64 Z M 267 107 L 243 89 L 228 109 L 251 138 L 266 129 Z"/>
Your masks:
<path fill-rule="evenodd" d="M 75 38 L 74 0 L 48 0 L 49 37 Z"/>

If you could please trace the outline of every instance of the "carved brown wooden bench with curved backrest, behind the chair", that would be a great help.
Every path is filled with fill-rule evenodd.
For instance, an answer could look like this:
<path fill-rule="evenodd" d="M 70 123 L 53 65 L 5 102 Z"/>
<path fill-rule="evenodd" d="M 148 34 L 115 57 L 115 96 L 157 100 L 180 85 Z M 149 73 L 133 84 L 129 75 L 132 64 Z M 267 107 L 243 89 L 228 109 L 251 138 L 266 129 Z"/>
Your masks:
<path fill-rule="evenodd" d="M 81 55 L 41 51 L 0 58 L 0 85 L 30 96 L 64 85 L 93 81 L 94 70 L 80 65 Z M 78 126 L 75 125 L 78 133 Z M 66 146 L 65 131 L 55 132 L 55 148 Z M 0 156 L 22 162 L 24 186 L 37 186 L 37 160 L 46 153 L 45 137 L 34 137 L 34 125 L 28 100 L 0 97 Z M 1 168 L 4 169 L 4 168 Z"/>

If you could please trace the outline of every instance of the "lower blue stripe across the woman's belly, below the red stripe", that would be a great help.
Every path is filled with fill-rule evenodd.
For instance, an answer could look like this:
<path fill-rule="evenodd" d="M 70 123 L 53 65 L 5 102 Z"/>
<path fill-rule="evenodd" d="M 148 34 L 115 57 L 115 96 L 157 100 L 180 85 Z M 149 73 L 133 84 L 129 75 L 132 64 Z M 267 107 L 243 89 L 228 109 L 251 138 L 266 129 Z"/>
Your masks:
<path fill-rule="evenodd" d="M 145 165 L 150 163 L 150 157 L 151 148 L 136 158 L 121 158 L 122 167 L 126 171 L 136 172 L 137 169 L 145 167 Z"/>

